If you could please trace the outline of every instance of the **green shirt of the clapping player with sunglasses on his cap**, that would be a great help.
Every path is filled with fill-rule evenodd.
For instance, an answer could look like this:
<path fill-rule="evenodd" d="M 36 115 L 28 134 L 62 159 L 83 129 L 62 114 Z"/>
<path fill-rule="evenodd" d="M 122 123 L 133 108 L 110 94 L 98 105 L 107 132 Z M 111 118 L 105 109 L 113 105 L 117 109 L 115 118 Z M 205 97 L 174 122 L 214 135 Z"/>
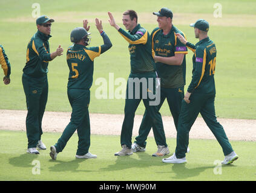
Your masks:
<path fill-rule="evenodd" d="M 48 39 L 50 35 L 45 35 L 38 31 L 31 37 L 27 46 L 27 62 L 23 72 L 30 77 L 44 77 L 48 72 L 48 62 L 50 62 L 50 46 Z"/>

